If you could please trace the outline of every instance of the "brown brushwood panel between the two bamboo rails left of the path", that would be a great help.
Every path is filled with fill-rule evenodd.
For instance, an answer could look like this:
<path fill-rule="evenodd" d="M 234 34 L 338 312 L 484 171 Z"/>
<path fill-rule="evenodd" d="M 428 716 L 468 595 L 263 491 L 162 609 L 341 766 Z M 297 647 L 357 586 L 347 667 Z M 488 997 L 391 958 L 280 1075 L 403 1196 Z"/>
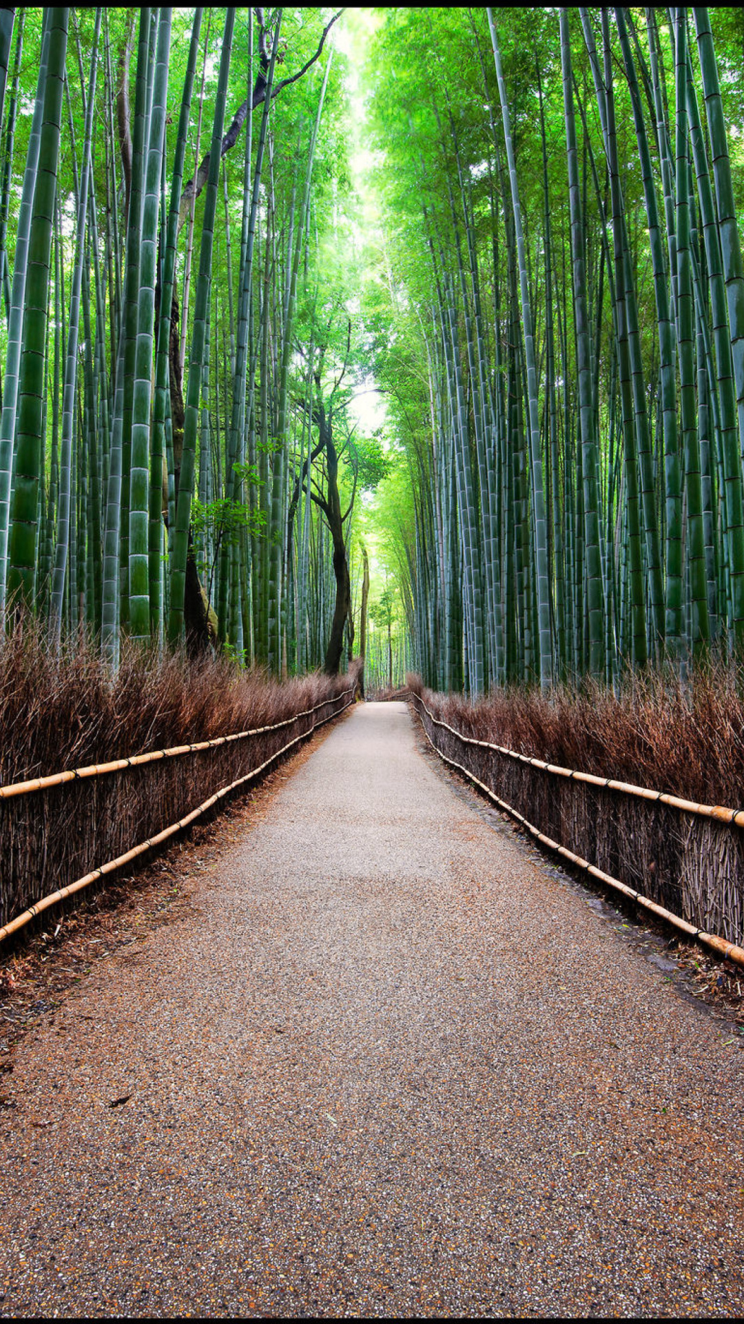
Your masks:
<path fill-rule="evenodd" d="M 331 695 L 320 707 L 278 730 L 0 800 L 0 925 L 308 735 L 349 702 L 346 677 L 343 686 L 330 682 Z"/>

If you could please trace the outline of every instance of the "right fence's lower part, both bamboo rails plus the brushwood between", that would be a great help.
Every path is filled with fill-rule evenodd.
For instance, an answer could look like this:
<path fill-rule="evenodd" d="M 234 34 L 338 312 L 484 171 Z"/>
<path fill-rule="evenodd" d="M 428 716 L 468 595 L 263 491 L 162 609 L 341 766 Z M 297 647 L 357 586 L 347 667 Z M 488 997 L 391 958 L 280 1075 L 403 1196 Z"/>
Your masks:
<path fill-rule="evenodd" d="M 429 702 L 437 696 L 429 695 Z M 744 965 L 744 810 L 576 772 L 463 735 L 412 700 L 433 748 L 543 843 Z"/>

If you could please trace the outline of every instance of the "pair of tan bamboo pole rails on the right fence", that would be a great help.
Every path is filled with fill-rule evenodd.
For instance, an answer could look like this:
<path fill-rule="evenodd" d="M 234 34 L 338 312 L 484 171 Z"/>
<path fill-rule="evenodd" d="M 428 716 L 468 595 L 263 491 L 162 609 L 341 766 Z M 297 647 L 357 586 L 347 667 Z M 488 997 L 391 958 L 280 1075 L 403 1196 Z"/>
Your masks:
<path fill-rule="evenodd" d="M 449 726 L 449 723 L 442 722 L 440 718 L 436 718 L 432 710 L 426 706 L 426 703 L 418 694 L 412 691 L 412 699 L 416 707 L 418 704 L 421 706 L 421 708 L 425 711 L 426 716 L 429 718 L 433 726 L 443 727 L 446 731 L 449 731 L 451 735 L 454 735 L 458 740 L 461 740 L 466 745 L 479 745 L 482 748 L 492 749 L 496 753 L 518 759 L 522 763 L 531 764 L 532 767 L 539 768 L 543 772 L 551 772 L 560 777 L 569 777 L 575 781 L 588 782 L 589 785 L 601 786 L 602 789 L 606 790 L 618 790 L 624 794 L 637 796 L 642 800 L 661 801 L 662 804 L 673 809 L 679 809 L 684 810 L 686 813 L 698 814 L 699 817 L 703 818 L 714 818 L 721 824 L 736 825 L 737 828 L 744 826 L 744 810 L 724 809 L 719 805 L 716 806 L 698 805 L 692 801 L 682 800 L 679 796 L 666 796 L 662 794 L 661 792 L 646 790 L 643 786 L 633 786 L 629 782 L 613 781 L 609 777 L 594 777 L 590 773 L 572 772 L 568 768 L 559 768 L 555 764 L 544 763 L 540 759 L 531 759 L 528 755 L 516 753 L 516 751 L 508 749 L 503 745 L 495 745 L 487 740 L 475 740 L 471 736 L 465 736 L 455 727 L 451 727 Z M 426 724 L 421 716 L 421 712 L 418 712 L 418 716 L 421 719 L 421 728 L 424 731 L 424 735 L 426 736 L 434 753 L 438 755 L 438 757 L 442 759 L 445 763 L 447 763 L 451 768 L 455 768 L 458 772 L 463 773 L 463 776 L 466 776 L 470 781 L 473 781 L 479 788 L 479 790 L 482 790 L 490 800 L 494 801 L 494 804 L 499 806 L 499 809 L 502 809 L 504 813 L 508 813 L 510 817 L 515 818 L 516 822 L 519 822 L 522 828 L 524 828 L 543 846 L 547 846 L 549 850 L 555 850 L 556 854 L 561 855 L 564 859 L 568 859 L 572 865 L 577 866 L 579 869 L 582 869 L 585 873 L 590 874 L 593 878 L 597 878 L 608 887 L 620 891 L 624 896 L 628 896 L 630 900 L 643 907 L 643 910 L 647 910 L 653 915 L 657 915 L 659 919 L 663 919 L 669 924 L 673 924 L 687 937 L 702 943 L 704 947 L 714 951 L 718 956 L 724 957 L 725 960 L 729 960 L 736 965 L 744 968 L 744 948 L 739 947 L 736 943 L 729 943 L 727 939 L 720 937 L 718 933 L 708 933 L 706 929 L 695 924 L 691 924 L 688 920 L 682 919 L 682 916 L 675 915 L 673 911 L 667 910 L 665 906 L 659 906 L 658 902 L 651 900 L 650 896 L 645 896 L 635 888 L 629 887 L 626 883 L 621 882 L 620 878 L 613 878 L 610 874 L 606 874 L 596 865 L 592 865 L 588 859 L 584 859 L 581 855 L 577 855 L 575 851 L 569 850 L 568 846 L 563 846 L 560 842 L 553 841 L 545 833 L 541 833 L 539 828 L 535 828 L 534 824 L 528 822 L 523 814 L 520 814 L 516 809 L 514 809 L 504 800 L 496 796 L 496 793 L 483 781 L 481 781 L 481 779 L 477 777 L 469 768 L 457 763 L 454 759 L 450 759 L 449 755 L 443 753 L 440 748 L 437 748 L 437 745 L 434 744 L 432 736 L 426 730 Z"/>

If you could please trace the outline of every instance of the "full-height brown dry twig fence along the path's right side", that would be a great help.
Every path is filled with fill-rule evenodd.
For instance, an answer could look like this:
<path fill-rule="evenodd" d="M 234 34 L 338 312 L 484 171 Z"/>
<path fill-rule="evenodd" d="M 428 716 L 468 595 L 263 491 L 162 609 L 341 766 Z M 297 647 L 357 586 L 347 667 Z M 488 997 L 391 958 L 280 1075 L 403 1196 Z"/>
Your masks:
<path fill-rule="evenodd" d="M 694 932 L 737 947 L 744 943 L 740 682 L 721 669 L 700 673 L 692 685 L 657 675 L 618 695 L 594 686 L 579 694 L 502 691 L 471 704 L 409 677 L 438 753 L 552 842 L 682 916 Z M 653 789 L 638 796 L 585 775 Z M 718 805 L 731 808 L 692 812 Z"/>

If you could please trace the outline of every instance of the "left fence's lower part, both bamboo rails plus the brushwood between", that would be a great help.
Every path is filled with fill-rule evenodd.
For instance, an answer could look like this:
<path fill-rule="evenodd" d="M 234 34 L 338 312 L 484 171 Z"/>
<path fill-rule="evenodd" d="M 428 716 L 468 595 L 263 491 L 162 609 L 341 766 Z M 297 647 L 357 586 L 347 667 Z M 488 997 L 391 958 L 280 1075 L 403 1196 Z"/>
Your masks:
<path fill-rule="evenodd" d="M 175 835 L 351 703 L 353 686 L 273 726 L 0 786 L 0 941 Z M 106 863 L 91 870 L 95 859 Z"/>

